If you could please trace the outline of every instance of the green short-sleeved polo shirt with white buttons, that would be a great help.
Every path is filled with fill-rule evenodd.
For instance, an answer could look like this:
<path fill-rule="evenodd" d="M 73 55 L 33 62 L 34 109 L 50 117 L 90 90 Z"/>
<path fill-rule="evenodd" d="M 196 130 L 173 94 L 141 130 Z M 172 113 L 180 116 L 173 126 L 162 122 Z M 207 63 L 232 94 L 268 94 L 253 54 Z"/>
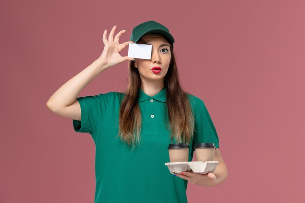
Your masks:
<path fill-rule="evenodd" d="M 172 143 L 166 127 L 166 89 L 154 96 L 139 91 L 141 142 L 133 149 L 116 137 L 123 97 L 124 93 L 108 92 L 76 98 L 81 121 L 73 120 L 74 129 L 90 133 L 95 142 L 95 203 L 187 203 L 188 182 L 172 176 L 165 166 Z M 204 102 L 191 94 L 188 98 L 195 117 L 191 161 L 197 142 L 215 143 L 219 148 L 219 140 Z"/>

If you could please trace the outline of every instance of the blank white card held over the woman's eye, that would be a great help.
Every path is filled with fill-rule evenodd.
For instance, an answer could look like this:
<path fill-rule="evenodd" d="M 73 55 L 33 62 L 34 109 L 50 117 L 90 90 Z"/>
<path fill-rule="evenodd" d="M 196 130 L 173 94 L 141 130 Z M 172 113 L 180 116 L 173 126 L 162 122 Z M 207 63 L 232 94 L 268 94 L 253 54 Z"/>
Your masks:
<path fill-rule="evenodd" d="M 128 57 L 151 59 L 151 56 L 152 56 L 152 45 L 129 43 Z"/>

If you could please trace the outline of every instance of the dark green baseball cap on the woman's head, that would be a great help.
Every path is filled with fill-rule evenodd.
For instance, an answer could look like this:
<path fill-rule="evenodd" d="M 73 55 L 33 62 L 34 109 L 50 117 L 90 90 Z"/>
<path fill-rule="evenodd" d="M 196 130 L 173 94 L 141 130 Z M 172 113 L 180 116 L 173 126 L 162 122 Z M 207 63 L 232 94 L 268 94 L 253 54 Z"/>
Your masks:
<path fill-rule="evenodd" d="M 130 41 L 136 43 L 142 36 L 150 33 L 163 35 L 172 45 L 175 41 L 169 29 L 154 20 L 143 22 L 135 26 L 133 28 L 133 33 L 130 37 Z"/>

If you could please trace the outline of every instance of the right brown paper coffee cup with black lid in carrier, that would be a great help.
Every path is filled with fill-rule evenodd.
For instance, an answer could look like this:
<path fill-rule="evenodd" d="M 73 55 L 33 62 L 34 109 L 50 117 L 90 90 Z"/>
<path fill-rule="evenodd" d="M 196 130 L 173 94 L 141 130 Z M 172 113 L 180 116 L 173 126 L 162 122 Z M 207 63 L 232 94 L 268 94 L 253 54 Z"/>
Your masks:
<path fill-rule="evenodd" d="M 197 143 L 195 145 L 196 161 L 213 161 L 215 156 L 214 143 Z"/>

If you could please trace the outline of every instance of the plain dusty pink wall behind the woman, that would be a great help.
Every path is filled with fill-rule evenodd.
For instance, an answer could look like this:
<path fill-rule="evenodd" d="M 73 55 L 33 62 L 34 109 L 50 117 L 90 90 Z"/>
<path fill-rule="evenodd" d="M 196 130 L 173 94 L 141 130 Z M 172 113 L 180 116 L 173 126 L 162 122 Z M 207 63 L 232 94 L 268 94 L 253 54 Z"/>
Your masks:
<path fill-rule="evenodd" d="M 302 0 L 2 2 L 0 203 L 94 202 L 94 142 L 46 102 L 101 54 L 104 29 L 129 41 L 147 20 L 175 37 L 183 87 L 205 102 L 229 169 L 222 185 L 189 183 L 189 202 L 303 203 L 304 11 Z M 79 96 L 122 91 L 126 76 L 124 62 Z"/>

